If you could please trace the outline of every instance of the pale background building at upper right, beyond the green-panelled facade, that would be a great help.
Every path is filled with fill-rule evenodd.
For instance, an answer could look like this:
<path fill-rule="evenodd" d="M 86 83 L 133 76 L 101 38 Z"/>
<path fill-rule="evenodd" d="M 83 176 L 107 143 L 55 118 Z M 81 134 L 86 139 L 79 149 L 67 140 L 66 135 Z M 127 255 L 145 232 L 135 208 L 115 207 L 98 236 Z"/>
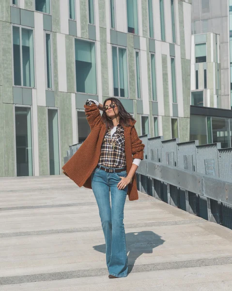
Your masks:
<path fill-rule="evenodd" d="M 192 66 L 191 90 L 196 90 L 194 80 L 199 70 L 193 51 L 197 52 L 197 57 L 206 54 L 206 61 L 201 59 L 200 63 L 206 70 L 203 74 L 207 74 L 207 80 L 212 82 L 209 88 L 201 88 L 209 89 L 204 91 L 203 106 L 223 109 L 231 109 L 232 106 L 229 32 L 232 6 L 229 7 L 229 2 L 231 0 L 192 0 L 192 34 L 195 34 L 195 41 L 192 42 L 191 63 L 197 66 Z M 203 77 L 200 76 L 201 69 L 198 72 L 200 78 Z"/>

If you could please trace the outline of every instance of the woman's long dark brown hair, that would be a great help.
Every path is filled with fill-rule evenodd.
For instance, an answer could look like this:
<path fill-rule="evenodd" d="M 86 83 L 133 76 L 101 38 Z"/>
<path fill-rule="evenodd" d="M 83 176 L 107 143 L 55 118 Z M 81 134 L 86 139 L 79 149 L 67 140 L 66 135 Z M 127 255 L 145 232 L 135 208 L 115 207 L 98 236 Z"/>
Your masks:
<path fill-rule="evenodd" d="M 115 97 L 111 97 L 111 98 L 107 98 L 104 103 L 103 103 L 103 107 L 105 106 L 106 102 L 110 100 L 111 103 L 115 103 L 117 106 L 118 106 L 118 113 L 119 113 L 119 124 L 120 125 L 124 125 L 124 126 L 130 126 L 131 125 L 131 122 L 134 122 L 135 121 L 135 118 L 133 118 L 130 113 L 128 113 L 122 102 L 115 98 Z M 114 111 L 114 108 L 113 108 L 113 111 Z M 114 114 L 115 114 L 115 111 L 114 111 Z M 115 114 L 116 116 L 116 114 Z M 108 129 L 112 128 L 113 127 L 113 122 L 112 120 L 107 116 L 107 113 L 103 110 L 103 113 L 102 113 L 102 118 L 103 118 L 103 121 L 106 122 L 106 126 Z"/>

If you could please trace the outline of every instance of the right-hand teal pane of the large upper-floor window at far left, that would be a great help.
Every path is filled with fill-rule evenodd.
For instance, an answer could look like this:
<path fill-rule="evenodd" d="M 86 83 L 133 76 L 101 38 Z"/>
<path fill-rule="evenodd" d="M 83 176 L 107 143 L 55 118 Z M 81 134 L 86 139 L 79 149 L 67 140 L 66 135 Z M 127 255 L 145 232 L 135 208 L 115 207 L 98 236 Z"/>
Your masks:
<path fill-rule="evenodd" d="M 33 31 L 22 28 L 23 86 L 34 87 Z"/>

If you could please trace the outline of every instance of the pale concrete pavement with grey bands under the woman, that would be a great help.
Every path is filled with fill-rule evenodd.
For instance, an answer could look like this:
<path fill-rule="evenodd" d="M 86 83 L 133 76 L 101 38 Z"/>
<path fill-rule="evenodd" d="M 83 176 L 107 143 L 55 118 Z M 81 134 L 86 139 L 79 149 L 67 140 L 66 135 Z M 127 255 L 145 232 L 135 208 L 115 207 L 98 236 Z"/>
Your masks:
<path fill-rule="evenodd" d="M 232 230 L 142 193 L 124 225 L 129 274 L 108 279 L 92 190 L 0 178 L 0 291 L 232 290 Z"/>

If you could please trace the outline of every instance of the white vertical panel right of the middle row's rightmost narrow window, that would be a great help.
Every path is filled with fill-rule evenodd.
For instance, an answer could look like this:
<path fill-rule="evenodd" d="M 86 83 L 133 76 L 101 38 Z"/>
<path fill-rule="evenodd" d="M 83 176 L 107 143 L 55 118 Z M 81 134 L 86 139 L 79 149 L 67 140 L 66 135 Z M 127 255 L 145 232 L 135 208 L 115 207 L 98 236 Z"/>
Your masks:
<path fill-rule="evenodd" d="M 181 68 L 181 48 L 175 46 L 175 59 L 176 59 L 176 94 L 178 103 L 178 115 L 184 117 L 184 100 L 183 100 L 183 84 L 182 84 L 182 68 Z M 188 98 L 185 96 L 185 98 Z M 190 96 L 189 96 L 190 98 Z"/>

